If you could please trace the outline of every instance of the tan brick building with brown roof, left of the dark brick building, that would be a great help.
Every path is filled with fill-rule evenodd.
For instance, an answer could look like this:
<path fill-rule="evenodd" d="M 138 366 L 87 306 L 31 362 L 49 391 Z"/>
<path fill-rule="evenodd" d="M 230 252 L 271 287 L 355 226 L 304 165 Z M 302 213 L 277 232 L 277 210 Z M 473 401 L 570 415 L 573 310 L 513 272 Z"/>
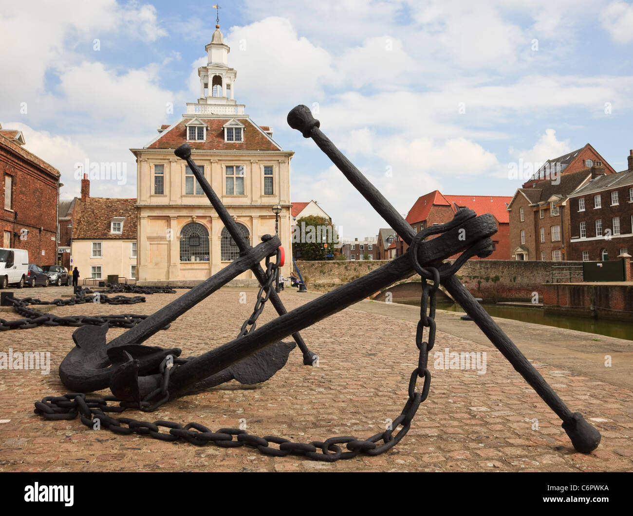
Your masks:
<path fill-rule="evenodd" d="M 593 178 L 610 175 L 611 167 L 600 161 L 591 168 L 544 180 L 534 188 L 519 188 L 508 205 L 510 259 L 566 261 L 572 226 L 570 195 Z"/>

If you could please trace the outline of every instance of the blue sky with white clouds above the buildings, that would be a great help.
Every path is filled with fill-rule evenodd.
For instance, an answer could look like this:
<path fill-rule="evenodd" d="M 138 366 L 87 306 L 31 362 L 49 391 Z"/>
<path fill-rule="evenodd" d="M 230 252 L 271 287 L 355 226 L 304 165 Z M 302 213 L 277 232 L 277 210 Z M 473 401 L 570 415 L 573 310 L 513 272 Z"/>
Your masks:
<path fill-rule="evenodd" d="M 161 123 L 197 97 L 210 3 L 0 0 L 0 123 L 60 169 L 135 161 Z M 222 5 L 222 4 L 220 4 Z M 633 5 L 615 1 L 227 3 L 220 25 L 235 99 L 296 152 L 292 199 L 315 199 L 345 237 L 384 222 L 311 140 L 285 123 L 296 104 L 403 214 L 419 195 L 513 195 L 513 164 L 537 168 L 591 143 L 615 169 L 633 148 Z M 99 50 L 95 50 L 99 40 Z M 26 104 L 24 104 L 26 102 Z M 173 114 L 166 113 L 172 102 Z M 25 109 L 26 106 L 26 109 Z M 26 111 L 26 112 L 24 112 Z"/>

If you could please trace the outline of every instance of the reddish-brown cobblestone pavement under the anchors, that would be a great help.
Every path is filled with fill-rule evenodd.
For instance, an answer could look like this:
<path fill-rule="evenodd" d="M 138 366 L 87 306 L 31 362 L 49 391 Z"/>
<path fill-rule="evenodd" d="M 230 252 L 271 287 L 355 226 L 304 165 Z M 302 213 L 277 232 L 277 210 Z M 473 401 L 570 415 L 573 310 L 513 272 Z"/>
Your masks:
<path fill-rule="evenodd" d="M 71 288 L 15 290 L 16 297 L 51 300 Z M 150 314 L 177 294 L 147 296 L 130 306 L 85 304 L 54 307 L 55 314 Z M 305 298 L 282 292 L 288 309 Z M 252 310 L 255 292 L 215 293 L 161 331 L 148 343 L 180 347 L 197 355 L 237 335 Z M 261 323 L 275 316 L 267 306 Z M 0 317 L 14 319 L 12 312 Z M 260 324 L 261 324 L 260 323 Z M 406 401 L 411 371 L 417 365 L 410 321 L 346 309 L 302 331 L 318 353 L 318 367 L 302 365 L 294 350 L 289 362 L 270 381 L 244 388 L 232 381 L 163 405 L 153 414 L 123 415 L 183 424 L 196 421 L 216 430 L 237 427 L 245 419 L 249 433 L 277 435 L 295 441 L 330 436 L 367 438 L 395 419 Z M 434 352 L 486 352 L 486 373 L 431 369 L 428 400 L 420 405 L 411 430 L 379 457 L 359 456 L 333 464 L 301 457 L 276 458 L 252 448 L 198 447 L 145 436 L 116 436 L 91 431 L 73 421 L 46 421 L 33 413 L 33 403 L 46 395 L 68 392 L 58 366 L 73 346 L 73 328 L 34 328 L 0 333 L 0 351 L 51 353 L 51 372 L 0 371 L 0 470 L 2 471 L 630 471 L 633 470 L 632 391 L 603 381 L 534 363 L 568 404 L 598 427 L 598 450 L 576 453 L 560 420 L 492 345 L 475 344 L 440 331 Z M 108 340 L 123 329 L 110 329 Z M 431 367 L 429 357 L 429 367 Z M 109 391 L 101 391 L 106 394 Z M 537 429 L 536 429 L 537 428 Z"/>

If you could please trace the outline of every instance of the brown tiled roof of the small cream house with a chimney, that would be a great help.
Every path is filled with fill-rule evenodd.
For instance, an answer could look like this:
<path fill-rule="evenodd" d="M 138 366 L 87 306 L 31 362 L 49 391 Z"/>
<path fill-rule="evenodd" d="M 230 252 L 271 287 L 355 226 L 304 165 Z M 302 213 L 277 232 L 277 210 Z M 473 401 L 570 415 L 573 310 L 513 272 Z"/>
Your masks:
<path fill-rule="evenodd" d="M 136 238 L 136 199 L 89 197 L 76 203 L 73 217 L 73 238 L 101 238 L 103 240 Z M 115 217 L 125 217 L 122 233 L 110 233 Z"/>

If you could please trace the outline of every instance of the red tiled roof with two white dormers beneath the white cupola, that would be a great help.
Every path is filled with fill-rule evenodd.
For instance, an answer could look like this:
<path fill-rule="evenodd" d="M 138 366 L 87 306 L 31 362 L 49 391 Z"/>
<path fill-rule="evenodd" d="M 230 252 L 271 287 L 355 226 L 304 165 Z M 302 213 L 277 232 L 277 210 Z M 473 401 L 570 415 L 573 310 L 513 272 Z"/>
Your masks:
<path fill-rule="evenodd" d="M 266 135 L 246 118 L 239 118 L 244 124 L 244 142 L 225 142 L 223 126 L 231 118 L 199 118 L 207 125 L 206 140 L 204 142 L 187 142 L 187 127 L 185 124 L 191 118 L 180 120 L 172 130 L 163 131 L 158 140 L 149 145 L 148 149 L 176 149 L 184 143 L 191 145 L 192 149 L 207 150 L 279 150 Z"/>

